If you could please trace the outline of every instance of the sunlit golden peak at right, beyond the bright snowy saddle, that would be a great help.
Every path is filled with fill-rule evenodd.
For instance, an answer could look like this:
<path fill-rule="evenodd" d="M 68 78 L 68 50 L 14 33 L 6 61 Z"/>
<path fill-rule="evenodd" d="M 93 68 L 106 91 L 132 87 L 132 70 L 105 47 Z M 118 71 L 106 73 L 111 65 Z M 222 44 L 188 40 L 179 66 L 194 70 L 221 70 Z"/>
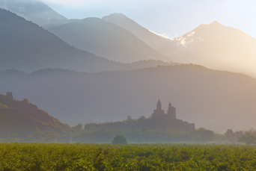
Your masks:
<path fill-rule="evenodd" d="M 177 40 L 183 56 L 177 61 L 256 77 L 256 40 L 243 31 L 212 22 L 200 25 Z"/>

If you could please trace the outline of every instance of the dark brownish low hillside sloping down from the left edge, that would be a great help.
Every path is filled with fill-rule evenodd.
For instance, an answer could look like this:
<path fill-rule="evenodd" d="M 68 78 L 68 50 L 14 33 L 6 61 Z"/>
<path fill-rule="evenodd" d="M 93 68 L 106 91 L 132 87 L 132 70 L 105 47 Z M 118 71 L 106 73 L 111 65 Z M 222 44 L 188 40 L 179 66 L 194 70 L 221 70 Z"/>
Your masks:
<path fill-rule="evenodd" d="M 70 126 L 55 119 L 46 111 L 40 110 L 28 101 L 7 99 L 0 95 L 0 137 L 16 134 L 17 137 L 28 137 L 37 131 L 55 131 L 61 134 Z"/>

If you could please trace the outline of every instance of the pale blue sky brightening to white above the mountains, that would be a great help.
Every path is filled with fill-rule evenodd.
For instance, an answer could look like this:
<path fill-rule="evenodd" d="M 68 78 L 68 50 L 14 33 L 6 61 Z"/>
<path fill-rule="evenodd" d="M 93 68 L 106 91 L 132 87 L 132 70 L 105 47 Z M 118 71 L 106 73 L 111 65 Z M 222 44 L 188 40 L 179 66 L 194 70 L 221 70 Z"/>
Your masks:
<path fill-rule="evenodd" d="M 150 31 L 180 37 L 217 21 L 256 38 L 255 0 L 43 0 L 68 19 L 123 13 Z"/>

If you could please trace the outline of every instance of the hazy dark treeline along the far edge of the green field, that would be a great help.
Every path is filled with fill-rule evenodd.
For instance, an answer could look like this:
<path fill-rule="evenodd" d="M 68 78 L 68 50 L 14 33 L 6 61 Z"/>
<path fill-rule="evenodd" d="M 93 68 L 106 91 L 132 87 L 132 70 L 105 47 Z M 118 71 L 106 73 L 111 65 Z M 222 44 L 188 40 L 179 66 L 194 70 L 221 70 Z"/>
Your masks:
<path fill-rule="evenodd" d="M 131 119 L 128 116 L 123 122 L 91 123 L 76 125 L 69 130 L 58 134 L 55 131 L 37 130 L 28 137 L 17 137 L 16 134 L 8 134 L 0 138 L 0 142 L 38 142 L 38 143 L 111 143 L 118 134 L 124 135 L 128 143 L 256 143 L 256 131 L 232 131 L 228 129 L 225 134 L 215 134 L 205 128 L 195 131 L 180 132 L 174 129 L 153 129 L 148 127 L 132 128 L 140 119 L 147 120 L 144 116 L 139 119 Z M 148 118 L 151 119 L 151 118 Z M 123 128 L 111 128 L 115 124 L 123 125 Z M 109 128 L 108 128 L 109 127 Z M 107 129 L 108 128 L 108 129 Z"/>

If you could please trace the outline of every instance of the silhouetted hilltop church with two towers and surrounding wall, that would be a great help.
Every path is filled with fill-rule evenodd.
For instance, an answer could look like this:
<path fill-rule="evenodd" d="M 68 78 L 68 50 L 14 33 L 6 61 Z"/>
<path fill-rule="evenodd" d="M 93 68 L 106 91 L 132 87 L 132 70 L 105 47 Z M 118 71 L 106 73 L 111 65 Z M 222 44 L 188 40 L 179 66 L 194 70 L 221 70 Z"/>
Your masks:
<path fill-rule="evenodd" d="M 194 131 L 195 123 L 189 123 L 176 118 L 176 108 L 168 105 L 167 114 L 162 110 L 162 103 L 158 100 L 156 109 L 153 111 L 152 119 L 161 120 L 163 128 L 173 128 L 177 131 Z"/>

